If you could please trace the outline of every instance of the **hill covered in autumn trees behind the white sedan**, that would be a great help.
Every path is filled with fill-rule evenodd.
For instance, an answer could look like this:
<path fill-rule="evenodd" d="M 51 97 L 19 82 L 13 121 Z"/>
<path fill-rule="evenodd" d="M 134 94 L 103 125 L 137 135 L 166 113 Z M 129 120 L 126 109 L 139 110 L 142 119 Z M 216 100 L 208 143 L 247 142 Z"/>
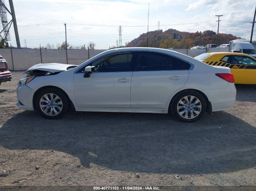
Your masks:
<path fill-rule="evenodd" d="M 232 34 L 219 33 L 218 45 L 228 44 L 229 41 L 241 39 Z M 193 46 L 205 46 L 207 44 L 216 44 L 217 34 L 212 30 L 204 32 L 181 32 L 176 29 L 168 29 L 165 32 L 155 30 L 148 32 L 148 47 L 156 48 L 191 48 Z M 147 33 L 141 34 L 128 43 L 128 47 L 146 47 Z"/>

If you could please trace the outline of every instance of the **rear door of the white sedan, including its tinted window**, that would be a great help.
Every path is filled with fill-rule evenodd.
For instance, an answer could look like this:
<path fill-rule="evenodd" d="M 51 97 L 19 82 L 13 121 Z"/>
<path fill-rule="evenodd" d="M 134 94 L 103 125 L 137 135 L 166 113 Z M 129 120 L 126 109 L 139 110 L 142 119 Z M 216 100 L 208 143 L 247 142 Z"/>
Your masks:
<path fill-rule="evenodd" d="M 139 52 L 131 80 L 131 108 L 166 108 L 188 79 L 190 64 L 161 53 Z"/>

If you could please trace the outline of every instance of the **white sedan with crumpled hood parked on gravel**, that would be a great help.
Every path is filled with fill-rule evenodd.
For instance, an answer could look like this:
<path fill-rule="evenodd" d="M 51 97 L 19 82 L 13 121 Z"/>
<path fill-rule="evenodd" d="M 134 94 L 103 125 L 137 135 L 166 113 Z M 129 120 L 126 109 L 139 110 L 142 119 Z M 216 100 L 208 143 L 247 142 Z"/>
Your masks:
<path fill-rule="evenodd" d="M 158 48 L 111 49 L 80 65 L 37 64 L 18 83 L 17 106 L 48 119 L 76 111 L 172 113 L 194 122 L 231 109 L 230 68 Z"/>

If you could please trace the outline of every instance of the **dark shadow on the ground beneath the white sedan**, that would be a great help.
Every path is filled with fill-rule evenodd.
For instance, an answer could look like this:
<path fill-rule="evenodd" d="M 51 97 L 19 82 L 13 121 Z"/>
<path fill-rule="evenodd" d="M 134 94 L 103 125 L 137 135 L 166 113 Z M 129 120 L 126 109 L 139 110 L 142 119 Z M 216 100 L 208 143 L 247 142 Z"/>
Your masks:
<path fill-rule="evenodd" d="M 256 165 L 256 129 L 225 112 L 182 123 L 168 114 L 74 112 L 48 120 L 31 111 L 9 119 L 0 145 L 53 149 L 111 170 L 222 173 Z"/>

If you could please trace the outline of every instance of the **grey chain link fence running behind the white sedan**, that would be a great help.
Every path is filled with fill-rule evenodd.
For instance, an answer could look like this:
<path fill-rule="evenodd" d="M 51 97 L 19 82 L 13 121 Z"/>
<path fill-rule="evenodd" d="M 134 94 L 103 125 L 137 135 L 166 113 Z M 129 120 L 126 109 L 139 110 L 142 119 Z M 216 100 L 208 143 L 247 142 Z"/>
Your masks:
<path fill-rule="evenodd" d="M 195 57 L 205 53 L 205 49 L 173 49 L 176 52 Z M 68 49 L 0 49 L 0 55 L 10 70 L 26 70 L 38 63 L 62 63 L 79 65 L 106 50 Z"/>

